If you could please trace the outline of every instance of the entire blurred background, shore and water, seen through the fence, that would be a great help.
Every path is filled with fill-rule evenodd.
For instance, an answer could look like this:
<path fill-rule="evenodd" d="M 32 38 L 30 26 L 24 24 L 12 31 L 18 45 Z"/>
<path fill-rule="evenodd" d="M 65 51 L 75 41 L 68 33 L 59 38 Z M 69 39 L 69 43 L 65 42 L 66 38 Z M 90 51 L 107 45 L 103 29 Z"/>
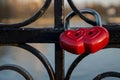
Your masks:
<path fill-rule="evenodd" d="M 71 12 L 67 1 L 64 1 L 64 15 Z M 12 24 L 21 22 L 34 15 L 43 5 L 44 0 L 0 0 L 0 23 Z M 25 27 L 43 28 L 54 27 L 54 1 L 45 14 L 34 23 Z M 92 8 L 101 15 L 104 24 L 120 23 L 120 0 L 74 0 L 77 8 Z M 91 18 L 91 16 L 88 16 Z M 91 18 L 93 19 L 93 18 Z M 71 20 L 71 27 L 89 27 L 91 25 L 82 21 L 78 16 Z M 54 44 L 30 44 L 40 50 L 50 61 L 54 68 Z M 120 49 L 103 49 L 97 54 L 86 57 L 74 70 L 71 80 L 92 80 L 95 76 L 106 71 L 119 69 Z M 65 52 L 65 73 L 76 55 Z M 39 60 L 31 53 L 13 46 L 0 47 L 0 65 L 17 64 L 25 68 L 35 80 L 49 80 L 47 71 Z M 1 71 L 0 80 L 24 80 L 14 71 Z M 120 80 L 107 78 L 104 80 Z"/>

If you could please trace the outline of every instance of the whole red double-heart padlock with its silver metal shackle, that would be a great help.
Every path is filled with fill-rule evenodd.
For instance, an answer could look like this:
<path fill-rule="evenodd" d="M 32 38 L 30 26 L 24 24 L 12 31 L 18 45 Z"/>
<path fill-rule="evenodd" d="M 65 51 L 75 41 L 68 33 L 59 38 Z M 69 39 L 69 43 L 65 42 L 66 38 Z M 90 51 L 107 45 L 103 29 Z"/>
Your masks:
<path fill-rule="evenodd" d="M 60 36 L 60 45 L 64 50 L 73 54 L 94 53 L 108 44 L 109 33 L 101 27 L 101 18 L 95 10 L 82 9 L 80 12 L 95 15 L 97 26 L 68 30 L 69 20 L 76 15 L 74 12 L 70 13 L 66 18 L 66 30 Z"/>

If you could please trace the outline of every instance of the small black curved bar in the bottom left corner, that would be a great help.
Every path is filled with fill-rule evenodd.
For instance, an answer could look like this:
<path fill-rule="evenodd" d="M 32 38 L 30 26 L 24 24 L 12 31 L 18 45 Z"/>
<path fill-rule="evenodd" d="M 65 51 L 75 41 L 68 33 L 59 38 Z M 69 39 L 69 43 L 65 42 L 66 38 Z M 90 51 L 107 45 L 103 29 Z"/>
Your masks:
<path fill-rule="evenodd" d="M 7 64 L 0 66 L 0 71 L 13 70 L 21 74 L 26 80 L 33 80 L 32 76 L 22 67 L 14 64 Z"/>

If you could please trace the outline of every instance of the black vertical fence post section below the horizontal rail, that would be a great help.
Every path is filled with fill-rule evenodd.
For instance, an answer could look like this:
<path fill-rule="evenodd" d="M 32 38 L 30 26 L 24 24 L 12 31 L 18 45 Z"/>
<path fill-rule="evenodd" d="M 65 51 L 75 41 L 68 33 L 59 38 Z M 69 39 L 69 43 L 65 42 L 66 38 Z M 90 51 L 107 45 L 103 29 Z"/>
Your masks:
<path fill-rule="evenodd" d="M 55 80 L 64 80 L 64 53 L 59 43 L 55 44 Z"/>

